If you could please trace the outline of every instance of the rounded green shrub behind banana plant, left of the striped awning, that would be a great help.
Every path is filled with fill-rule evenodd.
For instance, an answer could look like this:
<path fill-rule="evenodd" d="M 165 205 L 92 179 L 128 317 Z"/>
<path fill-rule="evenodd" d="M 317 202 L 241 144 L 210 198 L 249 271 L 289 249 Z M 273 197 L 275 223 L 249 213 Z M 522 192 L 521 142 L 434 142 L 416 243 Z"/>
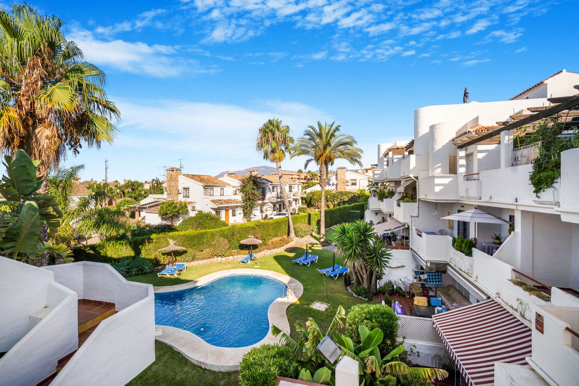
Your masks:
<path fill-rule="evenodd" d="M 358 326 L 361 325 L 370 330 L 382 330 L 384 339 L 378 346 L 381 355 L 388 354 L 397 346 L 398 315 L 390 307 L 381 304 L 356 304 L 350 308 L 346 316 L 346 335 L 354 341 L 354 345 L 360 344 Z"/>

